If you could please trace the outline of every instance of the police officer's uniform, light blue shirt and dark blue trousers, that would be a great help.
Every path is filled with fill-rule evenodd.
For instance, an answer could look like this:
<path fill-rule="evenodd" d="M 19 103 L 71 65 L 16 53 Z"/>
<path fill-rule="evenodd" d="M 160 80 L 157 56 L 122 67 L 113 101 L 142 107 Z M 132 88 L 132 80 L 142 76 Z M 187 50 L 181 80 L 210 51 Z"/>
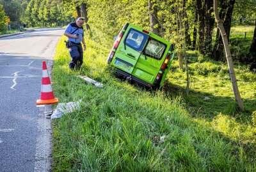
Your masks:
<path fill-rule="evenodd" d="M 75 32 L 74 32 L 75 31 Z M 71 47 L 69 48 L 69 53 L 72 58 L 69 68 L 70 69 L 80 69 L 83 64 L 83 48 L 81 46 L 81 40 L 84 37 L 83 27 L 78 27 L 76 22 L 68 24 L 67 29 L 65 30 L 68 34 L 78 35 L 78 38 L 68 38 L 68 41 L 72 42 Z"/>

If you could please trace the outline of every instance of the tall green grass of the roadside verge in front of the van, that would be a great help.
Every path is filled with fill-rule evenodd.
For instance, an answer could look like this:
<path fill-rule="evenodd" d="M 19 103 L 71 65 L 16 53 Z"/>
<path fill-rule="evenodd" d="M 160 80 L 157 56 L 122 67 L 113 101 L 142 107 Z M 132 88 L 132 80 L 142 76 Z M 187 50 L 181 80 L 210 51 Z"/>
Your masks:
<path fill-rule="evenodd" d="M 83 68 L 70 71 L 63 39 L 56 49 L 54 92 L 63 103 L 83 103 L 52 122 L 53 171 L 255 171 L 253 141 L 232 140 L 220 125 L 195 118 L 182 96 L 115 78 L 105 62 L 109 48 L 88 39 Z"/>

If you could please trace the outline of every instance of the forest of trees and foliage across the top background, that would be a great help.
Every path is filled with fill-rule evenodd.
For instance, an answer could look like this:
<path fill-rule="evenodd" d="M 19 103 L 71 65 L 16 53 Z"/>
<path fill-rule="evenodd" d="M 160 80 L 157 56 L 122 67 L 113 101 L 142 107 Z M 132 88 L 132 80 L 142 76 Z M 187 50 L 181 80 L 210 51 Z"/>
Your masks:
<path fill-rule="evenodd" d="M 256 1 L 220 0 L 220 18 L 228 39 L 230 28 L 237 25 L 255 25 L 253 39 L 231 41 L 234 61 L 245 64 L 256 61 Z M 175 43 L 179 66 L 182 63 L 182 43 L 186 49 L 198 50 L 199 55 L 214 61 L 225 61 L 223 43 L 214 20 L 213 0 L 0 0 L 0 31 L 10 24 L 13 29 L 24 27 L 60 27 L 86 18 L 87 36 L 111 47 L 112 40 L 126 23 L 139 25 Z M 214 29 L 215 28 L 215 29 Z M 254 64 L 253 64 L 254 62 Z"/>

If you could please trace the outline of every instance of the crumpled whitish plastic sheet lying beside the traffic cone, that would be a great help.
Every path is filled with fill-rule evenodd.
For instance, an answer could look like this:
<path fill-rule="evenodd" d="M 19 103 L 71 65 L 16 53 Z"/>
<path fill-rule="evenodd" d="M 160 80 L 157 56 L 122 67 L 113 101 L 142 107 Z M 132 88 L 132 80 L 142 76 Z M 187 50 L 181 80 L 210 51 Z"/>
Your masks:
<path fill-rule="evenodd" d="M 82 103 L 82 100 L 75 101 L 75 102 L 72 101 L 68 103 L 59 103 L 51 115 L 51 120 L 54 118 L 61 118 L 63 115 L 72 113 L 75 110 L 79 110 L 81 103 Z"/>

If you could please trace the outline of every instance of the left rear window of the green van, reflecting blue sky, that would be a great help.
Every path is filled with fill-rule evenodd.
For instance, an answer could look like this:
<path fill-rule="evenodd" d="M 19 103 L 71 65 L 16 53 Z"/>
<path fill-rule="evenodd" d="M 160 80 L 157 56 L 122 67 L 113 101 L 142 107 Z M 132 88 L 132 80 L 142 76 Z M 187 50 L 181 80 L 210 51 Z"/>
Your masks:
<path fill-rule="evenodd" d="M 148 39 L 147 34 L 140 31 L 136 31 L 134 29 L 130 29 L 129 34 L 125 39 L 125 45 L 131 47 L 132 49 L 138 52 L 141 52 L 147 39 Z"/>

